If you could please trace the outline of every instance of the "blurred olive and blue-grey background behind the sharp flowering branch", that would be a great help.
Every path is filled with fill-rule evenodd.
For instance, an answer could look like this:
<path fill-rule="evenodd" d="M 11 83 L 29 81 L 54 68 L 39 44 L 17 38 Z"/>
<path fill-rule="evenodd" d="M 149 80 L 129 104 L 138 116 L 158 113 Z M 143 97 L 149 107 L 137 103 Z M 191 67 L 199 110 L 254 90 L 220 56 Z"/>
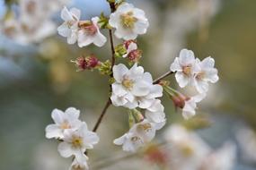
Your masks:
<path fill-rule="evenodd" d="M 105 0 L 56 1 L 49 2 L 53 8 L 49 13 L 38 5 L 37 15 L 25 16 L 25 29 L 16 31 L 24 14 L 21 9 L 29 0 L 0 0 L 0 169 L 68 169 L 71 159 L 60 157 L 57 141 L 45 138 L 45 127 L 52 123 L 51 111 L 75 106 L 92 129 L 108 98 L 108 79 L 98 72 L 76 72 L 70 60 L 94 54 L 105 61 L 110 58 L 109 44 L 101 49 L 67 45 L 56 28 L 62 23 L 59 12 L 63 5 L 81 9 L 84 20 L 102 12 L 108 15 L 109 5 Z M 135 155 L 112 144 L 128 131 L 128 115 L 125 109 L 110 106 L 98 130 L 101 140 L 89 151 L 92 169 L 192 169 L 168 166 L 182 157 L 168 156 L 172 146 L 165 149 L 166 143 L 159 144 L 172 138 L 172 133 L 169 137 L 166 133 L 174 123 L 187 127 L 213 153 L 226 141 L 232 143 L 234 158 L 224 161 L 230 164 L 229 169 L 256 169 L 256 1 L 128 2 L 145 10 L 150 22 L 147 34 L 138 38 L 144 52 L 141 64 L 147 72 L 156 78 L 168 71 L 182 48 L 189 48 L 200 59 L 208 55 L 215 58 L 220 81 L 210 86 L 198 115 L 190 121 L 185 122 L 181 110 L 176 112 L 172 100 L 164 97 L 168 123 L 157 132 L 154 144 Z M 173 77 L 167 80 L 176 86 Z M 225 158 L 228 156 L 218 158 L 217 163 Z"/>

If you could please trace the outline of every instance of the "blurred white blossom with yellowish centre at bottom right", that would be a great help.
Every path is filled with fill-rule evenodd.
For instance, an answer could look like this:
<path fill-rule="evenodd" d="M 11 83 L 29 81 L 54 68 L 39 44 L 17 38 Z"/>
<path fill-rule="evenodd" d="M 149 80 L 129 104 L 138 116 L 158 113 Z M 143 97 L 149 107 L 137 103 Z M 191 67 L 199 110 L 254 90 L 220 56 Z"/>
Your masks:
<path fill-rule="evenodd" d="M 202 160 L 211 152 L 198 134 L 189 132 L 180 124 L 172 124 L 167 129 L 165 140 L 172 146 L 168 151 L 173 159 L 170 169 L 198 170 Z"/>

